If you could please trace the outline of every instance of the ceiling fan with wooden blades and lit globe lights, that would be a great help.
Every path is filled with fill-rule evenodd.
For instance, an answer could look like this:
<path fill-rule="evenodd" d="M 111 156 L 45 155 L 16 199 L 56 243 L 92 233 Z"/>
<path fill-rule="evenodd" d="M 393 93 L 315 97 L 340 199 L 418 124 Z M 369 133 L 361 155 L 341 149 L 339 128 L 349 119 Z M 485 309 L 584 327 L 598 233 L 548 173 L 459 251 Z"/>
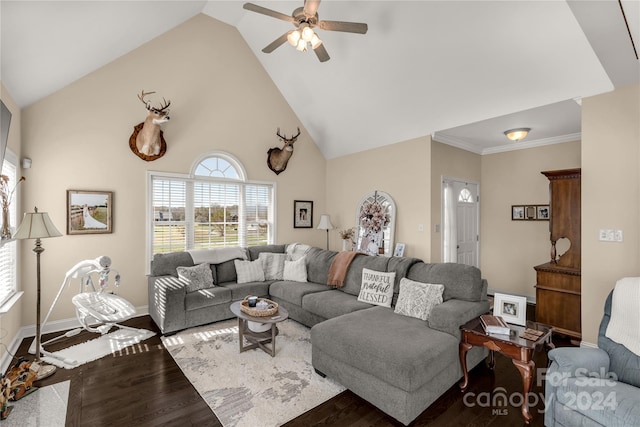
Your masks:
<path fill-rule="evenodd" d="M 284 44 L 284 42 L 288 41 L 299 51 L 306 51 L 307 46 L 311 46 L 320 62 L 325 62 L 329 60 L 329 54 L 322 40 L 320 40 L 313 30 L 314 28 L 318 27 L 321 30 L 327 31 L 366 34 L 368 27 L 367 24 L 359 22 L 320 21 L 318 19 L 318 6 L 320 6 L 320 0 L 305 0 L 304 7 L 295 9 L 291 16 L 253 3 L 245 3 L 243 7 L 252 12 L 291 22 L 296 27 L 295 30 L 287 31 L 262 49 L 264 53 L 271 53 Z"/>

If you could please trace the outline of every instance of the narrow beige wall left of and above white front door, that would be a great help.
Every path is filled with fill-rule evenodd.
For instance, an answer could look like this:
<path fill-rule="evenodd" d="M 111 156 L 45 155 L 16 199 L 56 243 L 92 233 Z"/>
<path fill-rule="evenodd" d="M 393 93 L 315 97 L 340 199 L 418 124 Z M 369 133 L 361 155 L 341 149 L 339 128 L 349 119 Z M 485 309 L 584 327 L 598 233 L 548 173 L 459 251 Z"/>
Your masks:
<path fill-rule="evenodd" d="M 431 144 L 431 262 L 442 262 L 442 178 L 480 183 L 481 160 L 482 156 L 470 151 L 437 141 Z M 482 197 L 482 186 L 479 189 Z"/>

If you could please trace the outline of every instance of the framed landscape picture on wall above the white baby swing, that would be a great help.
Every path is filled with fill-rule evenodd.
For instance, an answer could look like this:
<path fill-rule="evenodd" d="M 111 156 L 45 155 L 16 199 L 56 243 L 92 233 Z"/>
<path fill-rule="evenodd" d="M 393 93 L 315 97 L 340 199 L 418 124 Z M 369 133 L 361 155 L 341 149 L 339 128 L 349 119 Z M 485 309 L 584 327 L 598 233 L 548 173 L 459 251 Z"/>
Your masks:
<path fill-rule="evenodd" d="M 67 234 L 112 232 L 112 191 L 67 190 Z"/>

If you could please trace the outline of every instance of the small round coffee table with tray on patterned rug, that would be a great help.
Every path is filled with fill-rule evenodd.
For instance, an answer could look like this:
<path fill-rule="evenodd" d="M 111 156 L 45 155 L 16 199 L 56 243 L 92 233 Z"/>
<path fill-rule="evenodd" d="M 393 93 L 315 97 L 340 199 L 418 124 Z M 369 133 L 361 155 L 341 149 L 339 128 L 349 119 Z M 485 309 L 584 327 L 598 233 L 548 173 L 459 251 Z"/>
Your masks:
<path fill-rule="evenodd" d="M 240 353 L 254 348 L 260 348 L 271 357 L 276 355 L 276 335 L 278 335 L 277 324 L 289 317 L 286 308 L 278 307 L 278 312 L 272 316 L 249 316 L 240 309 L 240 301 L 231 304 L 231 312 L 238 316 L 238 341 L 240 341 Z M 271 329 L 265 332 L 253 332 L 249 329 L 249 322 L 270 323 Z M 245 340 L 247 345 L 245 345 Z M 267 344 L 271 344 L 267 346 Z"/>

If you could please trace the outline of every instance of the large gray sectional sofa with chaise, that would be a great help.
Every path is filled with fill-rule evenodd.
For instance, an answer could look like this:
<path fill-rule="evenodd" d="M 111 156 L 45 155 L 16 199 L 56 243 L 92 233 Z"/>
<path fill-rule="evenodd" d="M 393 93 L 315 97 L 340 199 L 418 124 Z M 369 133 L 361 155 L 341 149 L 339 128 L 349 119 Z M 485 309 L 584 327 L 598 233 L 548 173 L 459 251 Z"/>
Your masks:
<path fill-rule="evenodd" d="M 291 255 L 291 246 L 255 246 L 244 251 L 242 259 L 255 261 L 262 252 Z M 316 372 L 337 380 L 404 424 L 462 377 L 459 328 L 489 310 L 487 282 L 480 270 L 462 264 L 358 255 L 346 270 L 342 287 L 335 288 L 327 285 L 338 255 L 335 251 L 306 248 L 306 282 L 271 278 L 238 283 L 235 259 L 225 259 L 233 256 L 228 253 L 221 262 L 209 264 L 211 286 L 189 292 L 177 270 L 198 264 L 201 255 L 175 252 L 154 257 L 148 277 L 149 312 L 162 333 L 231 319 L 235 317 L 229 309 L 233 301 L 247 295 L 268 297 L 285 307 L 291 319 L 311 327 Z M 365 268 L 395 272 L 390 308 L 358 300 Z M 428 320 L 396 313 L 403 278 L 443 286 L 442 302 L 433 307 Z M 483 348 L 471 349 L 469 369 L 486 354 Z"/>

